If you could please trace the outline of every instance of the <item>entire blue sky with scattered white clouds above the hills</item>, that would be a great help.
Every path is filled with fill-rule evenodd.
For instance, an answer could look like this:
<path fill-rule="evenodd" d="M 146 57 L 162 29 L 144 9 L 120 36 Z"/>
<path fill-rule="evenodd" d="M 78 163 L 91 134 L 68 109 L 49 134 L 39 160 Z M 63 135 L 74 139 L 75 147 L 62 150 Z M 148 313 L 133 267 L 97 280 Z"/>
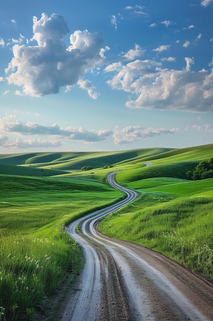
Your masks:
<path fill-rule="evenodd" d="M 213 143 L 213 0 L 3 0 L 0 154 Z"/>

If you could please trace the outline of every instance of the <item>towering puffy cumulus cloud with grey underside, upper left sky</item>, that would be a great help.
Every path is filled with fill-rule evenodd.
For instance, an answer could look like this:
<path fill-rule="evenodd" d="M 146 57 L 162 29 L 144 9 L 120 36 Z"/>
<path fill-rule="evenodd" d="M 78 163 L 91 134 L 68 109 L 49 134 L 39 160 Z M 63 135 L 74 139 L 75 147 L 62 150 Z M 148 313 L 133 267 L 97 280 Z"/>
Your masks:
<path fill-rule="evenodd" d="M 33 18 L 35 46 L 15 44 L 13 58 L 5 72 L 9 84 L 21 86 L 23 93 L 43 96 L 58 93 L 62 86 L 73 86 L 85 73 L 104 63 L 105 49 L 100 33 L 77 30 L 67 48 L 62 38 L 69 32 L 64 18 L 42 13 Z M 108 48 L 107 48 L 108 50 Z"/>

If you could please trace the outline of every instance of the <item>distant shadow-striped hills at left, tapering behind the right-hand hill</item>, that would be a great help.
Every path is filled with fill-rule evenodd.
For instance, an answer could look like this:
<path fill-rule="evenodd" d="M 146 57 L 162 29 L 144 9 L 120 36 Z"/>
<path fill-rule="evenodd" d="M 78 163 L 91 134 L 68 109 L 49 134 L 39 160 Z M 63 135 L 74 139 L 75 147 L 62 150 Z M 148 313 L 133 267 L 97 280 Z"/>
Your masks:
<path fill-rule="evenodd" d="M 149 148 L 121 152 L 63 152 L 0 155 L 0 164 L 39 167 L 63 171 L 80 170 L 83 166 L 101 168 L 105 165 L 131 162 L 131 160 L 164 153 L 169 149 Z"/>

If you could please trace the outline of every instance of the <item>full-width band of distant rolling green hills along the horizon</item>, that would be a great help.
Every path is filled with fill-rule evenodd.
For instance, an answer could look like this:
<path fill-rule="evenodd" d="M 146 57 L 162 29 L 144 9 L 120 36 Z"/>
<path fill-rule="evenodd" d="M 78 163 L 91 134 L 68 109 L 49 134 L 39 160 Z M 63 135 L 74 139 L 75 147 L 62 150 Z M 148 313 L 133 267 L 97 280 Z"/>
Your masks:
<path fill-rule="evenodd" d="M 106 165 L 157 162 L 195 162 L 212 157 L 213 144 L 173 149 L 141 148 L 110 152 L 35 152 L 0 155 L 0 174 L 53 176 L 79 171 L 84 166 L 92 169 Z M 17 169 L 18 166 L 18 169 Z"/>

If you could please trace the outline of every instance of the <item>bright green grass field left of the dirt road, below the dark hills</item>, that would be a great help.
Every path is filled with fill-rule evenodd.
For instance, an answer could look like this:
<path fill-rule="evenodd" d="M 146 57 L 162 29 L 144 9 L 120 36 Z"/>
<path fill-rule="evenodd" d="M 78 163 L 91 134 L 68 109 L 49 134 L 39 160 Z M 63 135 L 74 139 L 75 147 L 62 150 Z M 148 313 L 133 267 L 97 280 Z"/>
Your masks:
<path fill-rule="evenodd" d="M 123 194 L 77 177 L 0 175 L 0 182 L 2 320 L 27 320 L 45 307 L 67 271 L 74 278 L 81 269 L 82 250 L 65 226 Z"/>

